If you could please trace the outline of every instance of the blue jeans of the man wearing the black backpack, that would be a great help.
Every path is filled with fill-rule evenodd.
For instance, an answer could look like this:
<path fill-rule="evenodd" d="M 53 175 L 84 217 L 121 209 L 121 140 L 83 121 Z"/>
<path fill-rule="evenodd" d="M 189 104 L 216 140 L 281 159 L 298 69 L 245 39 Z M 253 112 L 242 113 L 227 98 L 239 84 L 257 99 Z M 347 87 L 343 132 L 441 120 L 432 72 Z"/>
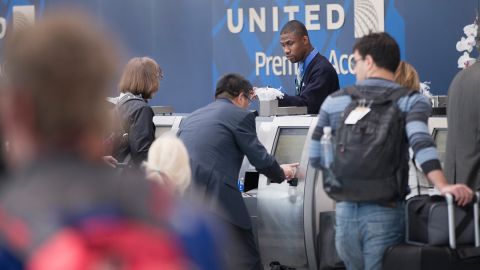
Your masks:
<path fill-rule="evenodd" d="M 405 203 L 338 202 L 335 246 L 348 270 L 381 270 L 385 250 L 404 241 Z"/>

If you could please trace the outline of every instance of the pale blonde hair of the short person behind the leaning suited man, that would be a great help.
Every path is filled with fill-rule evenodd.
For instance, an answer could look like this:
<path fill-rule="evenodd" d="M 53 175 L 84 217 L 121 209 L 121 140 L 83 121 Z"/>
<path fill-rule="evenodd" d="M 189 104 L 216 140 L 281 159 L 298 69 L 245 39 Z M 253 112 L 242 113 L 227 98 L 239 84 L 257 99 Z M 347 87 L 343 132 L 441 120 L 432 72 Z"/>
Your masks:
<path fill-rule="evenodd" d="M 147 178 L 171 185 L 183 194 L 190 185 L 191 170 L 187 149 L 183 142 L 171 134 L 157 138 L 148 150 L 148 159 L 143 163 Z"/>

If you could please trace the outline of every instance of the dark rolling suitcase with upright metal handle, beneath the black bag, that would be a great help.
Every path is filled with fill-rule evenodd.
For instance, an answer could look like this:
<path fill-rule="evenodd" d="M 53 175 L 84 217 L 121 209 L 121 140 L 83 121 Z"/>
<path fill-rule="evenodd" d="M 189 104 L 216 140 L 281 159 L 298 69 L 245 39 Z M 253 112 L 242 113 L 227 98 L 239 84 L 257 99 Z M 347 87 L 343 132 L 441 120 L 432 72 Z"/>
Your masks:
<path fill-rule="evenodd" d="M 455 206 L 453 197 L 446 194 L 449 246 L 400 244 L 389 247 L 383 256 L 385 270 L 478 270 L 480 269 L 480 229 L 478 204 L 473 205 L 475 246 L 458 246 L 455 235 Z"/>

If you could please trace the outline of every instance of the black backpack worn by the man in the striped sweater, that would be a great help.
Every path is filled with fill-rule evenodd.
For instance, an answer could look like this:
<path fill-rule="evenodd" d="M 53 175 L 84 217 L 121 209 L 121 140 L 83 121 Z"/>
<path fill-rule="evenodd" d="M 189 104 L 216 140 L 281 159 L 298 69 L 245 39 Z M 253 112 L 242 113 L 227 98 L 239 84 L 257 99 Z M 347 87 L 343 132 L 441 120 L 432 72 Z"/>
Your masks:
<path fill-rule="evenodd" d="M 324 170 L 325 192 L 336 201 L 393 202 L 408 194 L 408 148 L 405 113 L 399 98 L 415 91 L 356 87 L 343 90 L 352 102 L 335 132 L 335 157 Z M 340 92 L 342 93 L 342 92 Z M 356 124 L 345 119 L 358 106 L 371 109 Z"/>

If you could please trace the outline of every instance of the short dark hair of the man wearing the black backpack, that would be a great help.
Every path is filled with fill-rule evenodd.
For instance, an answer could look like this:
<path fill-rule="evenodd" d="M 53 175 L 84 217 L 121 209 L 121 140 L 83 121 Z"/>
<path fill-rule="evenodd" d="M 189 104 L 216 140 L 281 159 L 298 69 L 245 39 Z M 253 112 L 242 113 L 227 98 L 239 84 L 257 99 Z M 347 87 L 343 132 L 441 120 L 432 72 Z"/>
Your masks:
<path fill-rule="evenodd" d="M 353 51 L 355 50 L 362 58 L 370 55 L 378 67 L 391 72 L 395 72 L 400 64 L 400 48 L 395 39 L 385 32 L 361 37 L 353 46 Z"/>

